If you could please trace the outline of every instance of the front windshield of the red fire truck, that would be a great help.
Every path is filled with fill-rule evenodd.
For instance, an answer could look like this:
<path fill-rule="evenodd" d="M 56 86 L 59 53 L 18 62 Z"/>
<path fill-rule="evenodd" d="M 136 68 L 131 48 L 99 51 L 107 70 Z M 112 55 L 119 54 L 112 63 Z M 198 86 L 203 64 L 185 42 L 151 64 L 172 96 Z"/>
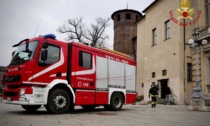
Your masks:
<path fill-rule="evenodd" d="M 37 44 L 38 44 L 38 41 L 28 42 L 28 48 L 26 47 L 27 43 L 19 45 L 12 57 L 10 66 L 19 65 L 26 61 L 31 60 L 36 51 Z"/>

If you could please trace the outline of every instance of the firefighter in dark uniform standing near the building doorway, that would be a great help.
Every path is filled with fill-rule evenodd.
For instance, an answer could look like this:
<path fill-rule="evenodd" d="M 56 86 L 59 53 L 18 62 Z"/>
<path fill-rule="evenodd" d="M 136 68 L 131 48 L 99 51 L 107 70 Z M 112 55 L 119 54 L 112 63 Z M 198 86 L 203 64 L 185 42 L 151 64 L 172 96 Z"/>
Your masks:
<path fill-rule="evenodd" d="M 149 90 L 149 98 L 151 96 L 152 102 L 152 108 L 155 108 L 157 103 L 157 97 L 158 97 L 158 87 L 155 86 L 155 84 L 152 84 L 150 90 Z"/>

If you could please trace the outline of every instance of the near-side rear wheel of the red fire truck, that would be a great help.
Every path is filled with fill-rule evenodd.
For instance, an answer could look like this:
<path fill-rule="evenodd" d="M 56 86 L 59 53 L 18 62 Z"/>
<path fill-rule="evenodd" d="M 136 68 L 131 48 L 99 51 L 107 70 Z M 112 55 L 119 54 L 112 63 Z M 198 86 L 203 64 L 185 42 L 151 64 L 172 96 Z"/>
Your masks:
<path fill-rule="evenodd" d="M 113 111 L 118 111 L 123 106 L 123 96 L 120 93 L 114 93 L 111 97 L 110 108 Z"/>

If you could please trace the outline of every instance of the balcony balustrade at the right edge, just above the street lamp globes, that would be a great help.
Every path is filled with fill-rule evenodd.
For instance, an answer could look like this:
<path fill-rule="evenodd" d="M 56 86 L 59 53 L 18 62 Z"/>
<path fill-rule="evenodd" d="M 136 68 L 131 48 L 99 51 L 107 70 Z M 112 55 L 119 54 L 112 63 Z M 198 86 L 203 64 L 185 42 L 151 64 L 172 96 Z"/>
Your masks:
<path fill-rule="evenodd" d="M 210 26 L 199 28 L 198 40 L 209 39 L 209 38 L 210 38 Z"/>

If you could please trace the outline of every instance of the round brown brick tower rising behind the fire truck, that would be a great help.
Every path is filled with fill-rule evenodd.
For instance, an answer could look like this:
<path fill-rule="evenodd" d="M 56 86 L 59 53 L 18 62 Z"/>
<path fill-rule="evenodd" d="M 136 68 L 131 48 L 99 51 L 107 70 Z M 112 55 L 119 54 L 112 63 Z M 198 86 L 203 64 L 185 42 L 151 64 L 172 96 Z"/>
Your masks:
<path fill-rule="evenodd" d="M 118 10 L 111 15 L 114 21 L 114 50 L 135 57 L 136 21 L 141 17 L 140 12 L 131 9 Z"/>

